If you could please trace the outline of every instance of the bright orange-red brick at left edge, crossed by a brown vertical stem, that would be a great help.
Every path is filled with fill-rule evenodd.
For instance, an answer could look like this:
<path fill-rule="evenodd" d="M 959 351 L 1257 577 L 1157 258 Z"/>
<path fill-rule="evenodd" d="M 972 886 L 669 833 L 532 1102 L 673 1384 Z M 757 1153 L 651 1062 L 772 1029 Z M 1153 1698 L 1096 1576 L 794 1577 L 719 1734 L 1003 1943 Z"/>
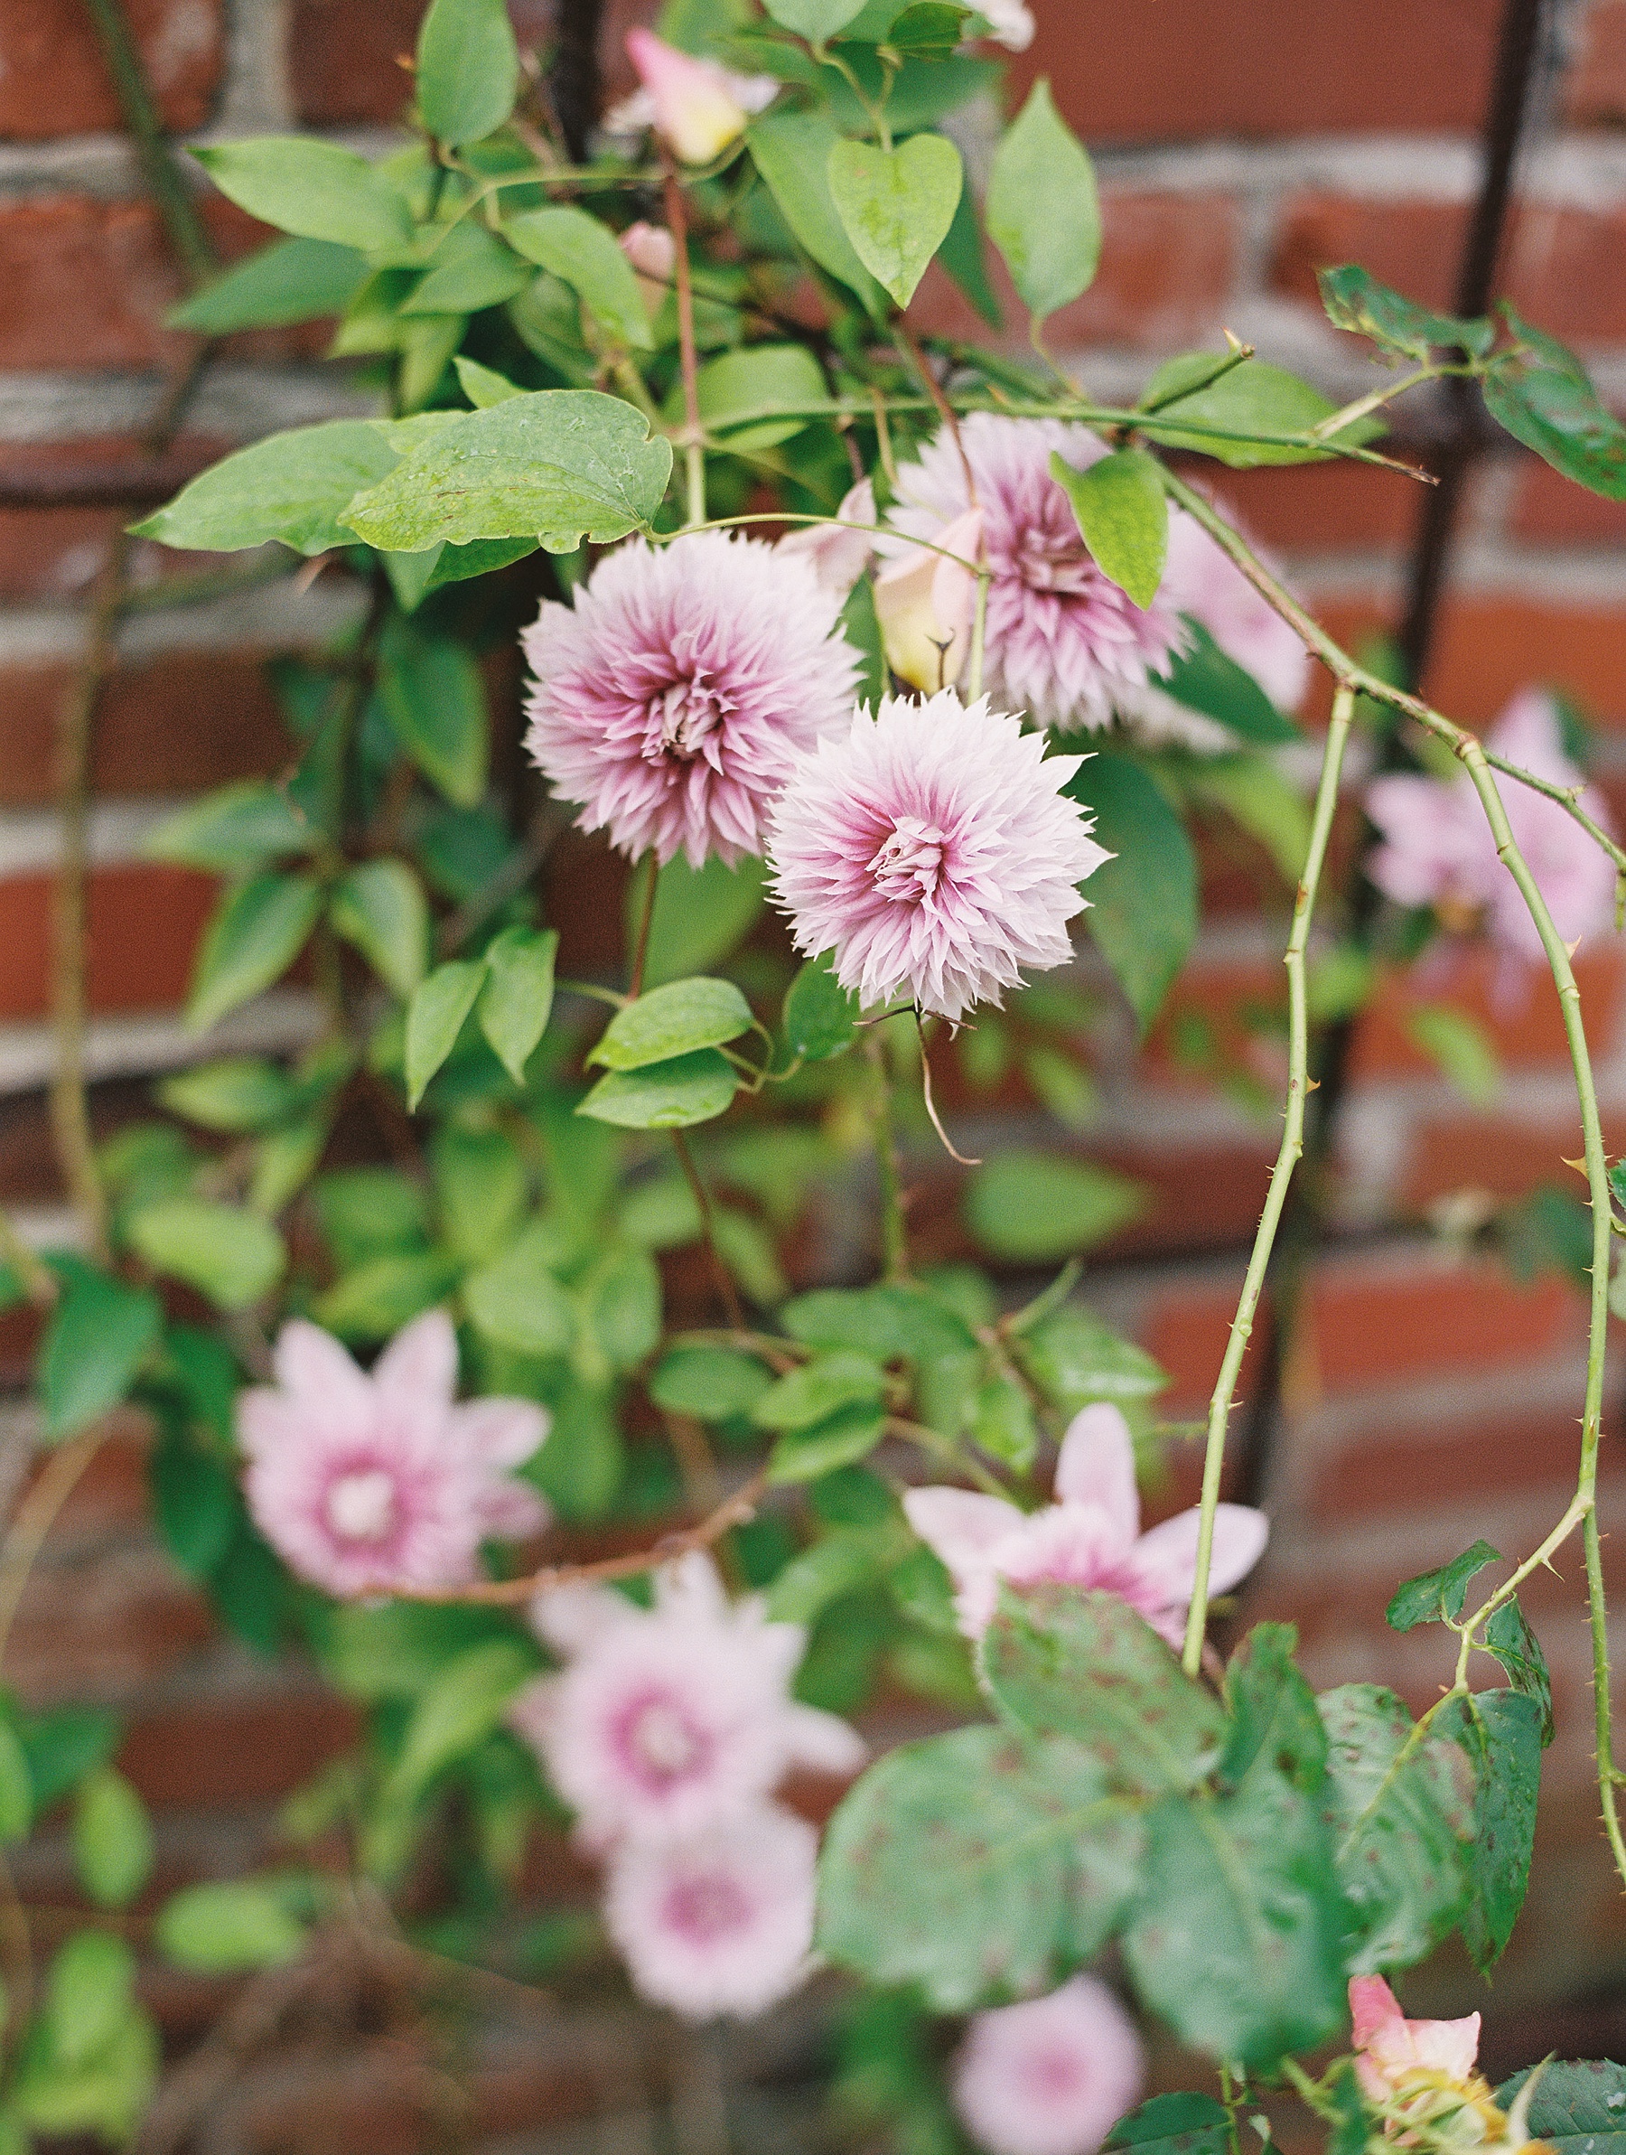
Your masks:
<path fill-rule="evenodd" d="M 215 884 L 192 868 L 131 864 L 90 875 L 86 985 L 93 1011 L 185 1000 Z M 0 881 L 0 1019 L 50 1009 L 50 877 Z"/>

